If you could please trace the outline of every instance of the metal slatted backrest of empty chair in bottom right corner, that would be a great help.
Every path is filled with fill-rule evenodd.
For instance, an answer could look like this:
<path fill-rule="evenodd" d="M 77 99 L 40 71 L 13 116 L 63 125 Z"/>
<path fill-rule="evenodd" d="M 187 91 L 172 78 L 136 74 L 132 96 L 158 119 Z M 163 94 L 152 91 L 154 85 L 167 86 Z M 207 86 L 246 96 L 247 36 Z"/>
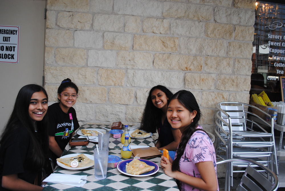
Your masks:
<path fill-rule="evenodd" d="M 249 164 L 237 187 L 238 191 L 276 191 L 278 189 L 279 181 L 276 174 L 256 161 L 249 159 L 226 159 L 218 161 L 217 165 L 232 162 L 247 162 Z M 257 165 L 258 170 L 262 170 L 262 172 L 257 171 L 251 165 Z M 229 185 L 229 182 L 226 182 L 225 185 Z"/>

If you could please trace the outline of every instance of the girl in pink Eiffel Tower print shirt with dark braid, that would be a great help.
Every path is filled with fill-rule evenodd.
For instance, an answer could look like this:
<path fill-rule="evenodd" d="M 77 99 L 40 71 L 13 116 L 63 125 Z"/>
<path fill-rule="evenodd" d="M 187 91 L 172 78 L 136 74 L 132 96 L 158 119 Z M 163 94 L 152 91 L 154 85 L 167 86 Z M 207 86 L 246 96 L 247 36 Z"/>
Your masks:
<path fill-rule="evenodd" d="M 180 190 L 218 191 L 215 149 L 207 133 L 198 125 L 201 112 L 194 95 L 181 90 L 168 103 L 168 122 L 181 131 L 182 138 L 174 161 L 162 156 L 161 168 L 180 182 Z"/>

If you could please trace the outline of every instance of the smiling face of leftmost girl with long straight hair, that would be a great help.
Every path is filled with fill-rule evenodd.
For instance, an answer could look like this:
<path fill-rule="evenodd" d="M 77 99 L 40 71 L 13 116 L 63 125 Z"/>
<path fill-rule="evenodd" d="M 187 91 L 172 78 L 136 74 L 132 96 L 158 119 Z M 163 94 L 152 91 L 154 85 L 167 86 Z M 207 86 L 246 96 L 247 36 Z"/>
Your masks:
<path fill-rule="evenodd" d="M 33 121 L 41 121 L 46 115 L 48 110 L 48 100 L 46 95 L 41 92 L 33 93 L 30 105 L 29 105 L 29 116 Z"/>

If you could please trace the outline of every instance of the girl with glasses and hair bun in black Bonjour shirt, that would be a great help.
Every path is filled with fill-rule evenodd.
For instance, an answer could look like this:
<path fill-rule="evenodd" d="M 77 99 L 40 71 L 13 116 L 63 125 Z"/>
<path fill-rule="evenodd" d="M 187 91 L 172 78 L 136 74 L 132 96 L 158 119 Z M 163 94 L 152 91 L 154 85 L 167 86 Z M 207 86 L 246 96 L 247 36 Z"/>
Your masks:
<path fill-rule="evenodd" d="M 75 109 L 72 107 L 78 97 L 78 87 L 68 78 L 58 87 L 58 101 L 48 107 L 49 148 L 51 159 L 61 157 L 74 132 L 79 128 Z"/>

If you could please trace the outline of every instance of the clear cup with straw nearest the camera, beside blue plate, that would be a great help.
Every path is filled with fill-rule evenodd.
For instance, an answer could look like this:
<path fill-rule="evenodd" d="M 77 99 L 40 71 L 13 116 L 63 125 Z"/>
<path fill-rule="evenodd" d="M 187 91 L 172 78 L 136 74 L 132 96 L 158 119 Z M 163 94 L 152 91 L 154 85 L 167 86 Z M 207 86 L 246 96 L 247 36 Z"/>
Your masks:
<path fill-rule="evenodd" d="M 108 155 L 109 149 L 99 147 L 94 151 L 94 169 L 95 178 L 98 180 L 105 179 L 107 177 Z"/>

